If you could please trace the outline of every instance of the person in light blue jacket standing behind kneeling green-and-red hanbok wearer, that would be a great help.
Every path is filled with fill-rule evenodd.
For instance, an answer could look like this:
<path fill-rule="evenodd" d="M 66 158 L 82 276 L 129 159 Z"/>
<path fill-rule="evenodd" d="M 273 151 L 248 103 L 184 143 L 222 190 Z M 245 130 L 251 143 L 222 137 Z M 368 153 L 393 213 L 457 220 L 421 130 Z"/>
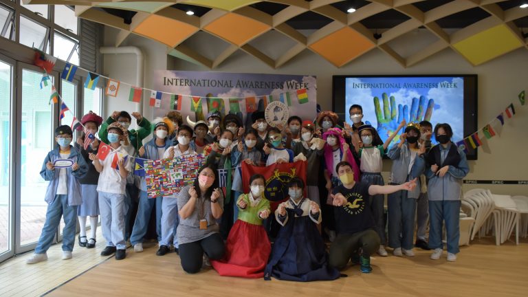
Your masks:
<path fill-rule="evenodd" d="M 260 166 L 262 153 L 256 150 L 256 137 L 257 132 L 250 129 L 245 132 L 243 142 L 239 142 L 231 151 L 231 164 L 234 169 L 233 184 L 231 189 L 234 191 L 233 197 L 240 197 L 242 195 L 242 174 L 241 166 L 242 162 L 250 165 Z M 234 203 L 233 206 L 233 221 L 236 221 L 239 217 L 239 207 Z"/>

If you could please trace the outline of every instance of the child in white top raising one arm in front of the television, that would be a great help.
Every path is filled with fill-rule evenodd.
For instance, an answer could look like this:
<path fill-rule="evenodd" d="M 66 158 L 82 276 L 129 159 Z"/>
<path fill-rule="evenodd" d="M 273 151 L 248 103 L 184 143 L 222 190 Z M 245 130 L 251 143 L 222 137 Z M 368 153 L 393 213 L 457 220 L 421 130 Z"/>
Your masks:
<path fill-rule="evenodd" d="M 388 144 L 391 144 L 394 137 L 401 128 L 405 126 L 405 120 L 399 124 L 399 127 L 391 136 L 382 143 L 380 135 L 377 135 L 376 129 L 371 125 L 363 125 L 358 128 L 360 135 L 360 142 L 356 152 L 360 156 L 360 170 L 361 181 L 364 184 L 383 186 L 384 181 L 382 177 L 383 169 L 383 155 L 385 154 Z M 371 212 L 374 217 L 375 228 L 377 234 L 380 236 L 381 245 L 377 254 L 380 256 L 387 256 L 385 245 L 387 236 L 385 235 L 385 220 L 384 220 L 384 201 L 385 195 L 375 195 L 369 197 Z"/>

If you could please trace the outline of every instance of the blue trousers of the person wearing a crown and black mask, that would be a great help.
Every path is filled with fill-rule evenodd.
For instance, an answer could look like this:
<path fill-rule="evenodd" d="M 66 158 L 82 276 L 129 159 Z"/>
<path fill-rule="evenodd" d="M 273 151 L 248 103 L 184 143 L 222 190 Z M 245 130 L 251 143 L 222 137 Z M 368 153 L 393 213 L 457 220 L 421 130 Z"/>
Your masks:
<path fill-rule="evenodd" d="M 387 197 L 388 246 L 412 250 L 415 232 L 416 199 L 408 198 L 406 190 L 393 192 Z"/>

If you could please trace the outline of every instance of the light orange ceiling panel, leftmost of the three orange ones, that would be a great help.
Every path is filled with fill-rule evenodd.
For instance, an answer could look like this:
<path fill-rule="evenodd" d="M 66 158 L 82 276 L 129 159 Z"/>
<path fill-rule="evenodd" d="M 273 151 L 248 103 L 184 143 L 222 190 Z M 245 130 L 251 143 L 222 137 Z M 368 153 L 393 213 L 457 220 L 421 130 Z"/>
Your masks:
<path fill-rule="evenodd" d="M 187 23 L 151 14 L 133 32 L 175 47 L 197 31 L 198 28 Z"/>

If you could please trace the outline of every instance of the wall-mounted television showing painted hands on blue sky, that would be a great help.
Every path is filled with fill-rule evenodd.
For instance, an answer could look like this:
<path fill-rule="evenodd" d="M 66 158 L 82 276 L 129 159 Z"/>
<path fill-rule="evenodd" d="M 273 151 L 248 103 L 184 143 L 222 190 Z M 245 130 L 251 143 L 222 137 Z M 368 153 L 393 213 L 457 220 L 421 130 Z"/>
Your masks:
<path fill-rule="evenodd" d="M 350 107 L 361 105 L 363 122 L 374 126 L 383 141 L 405 119 L 428 120 L 433 127 L 448 123 L 453 129 L 452 141 L 456 143 L 477 129 L 477 76 L 333 76 L 332 104 L 333 111 L 349 124 L 352 124 Z M 398 141 L 399 135 L 391 145 Z M 434 137 L 432 144 L 437 144 Z M 476 157 L 476 150 L 469 147 L 467 159 Z"/>

